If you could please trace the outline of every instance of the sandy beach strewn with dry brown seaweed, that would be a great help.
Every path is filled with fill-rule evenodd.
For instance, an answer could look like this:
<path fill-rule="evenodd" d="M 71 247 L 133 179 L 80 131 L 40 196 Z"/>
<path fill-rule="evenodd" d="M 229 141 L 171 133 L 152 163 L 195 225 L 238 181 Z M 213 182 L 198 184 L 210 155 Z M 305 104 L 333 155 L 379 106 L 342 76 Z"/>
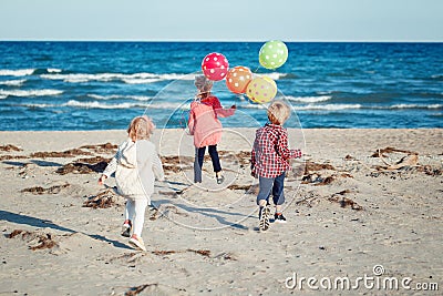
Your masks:
<path fill-rule="evenodd" d="M 441 293 L 442 129 L 290 130 L 305 156 L 286 178 L 288 223 L 266 233 L 254 133 L 226 130 L 226 182 L 206 160 L 195 185 L 192 137 L 155 131 L 166 181 L 146 211 L 143 253 L 120 235 L 113 178 L 96 182 L 125 131 L 0 132 L 0 295 Z"/>

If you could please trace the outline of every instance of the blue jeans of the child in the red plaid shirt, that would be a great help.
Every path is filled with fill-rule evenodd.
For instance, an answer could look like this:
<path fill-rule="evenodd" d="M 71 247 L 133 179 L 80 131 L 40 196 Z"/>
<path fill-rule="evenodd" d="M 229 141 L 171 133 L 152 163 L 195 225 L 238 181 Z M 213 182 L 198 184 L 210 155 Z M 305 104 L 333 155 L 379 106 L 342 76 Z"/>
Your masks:
<path fill-rule="evenodd" d="M 276 177 L 259 176 L 258 183 L 260 191 L 257 195 L 257 204 L 259 204 L 261 200 L 265 200 L 267 204 L 269 204 L 270 193 L 272 192 L 274 204 L 282 205 L 285 203 L 285 176 L 286 172 Z"/>

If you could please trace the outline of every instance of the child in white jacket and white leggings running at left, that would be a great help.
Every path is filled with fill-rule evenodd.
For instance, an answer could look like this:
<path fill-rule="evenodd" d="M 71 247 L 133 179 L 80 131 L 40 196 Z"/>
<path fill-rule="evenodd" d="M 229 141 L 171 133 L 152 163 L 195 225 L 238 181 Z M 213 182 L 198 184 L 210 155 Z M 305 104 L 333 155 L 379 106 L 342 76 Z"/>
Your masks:
<path fill-rule="evenodd" d="M 128 139 L 119 146 L 107 164 L 99 184 L 115 173 L 117 192 L 126 198 L 125 222 L 122 235 L 130 237 L 130 245 L 146 251 L 142 238 L 145 210 L 151 204 L 155 178 L 164 180 L 162 161 L 150 141 L 155 125 L 146 115 L 132 120 L 127 127 Z"/>

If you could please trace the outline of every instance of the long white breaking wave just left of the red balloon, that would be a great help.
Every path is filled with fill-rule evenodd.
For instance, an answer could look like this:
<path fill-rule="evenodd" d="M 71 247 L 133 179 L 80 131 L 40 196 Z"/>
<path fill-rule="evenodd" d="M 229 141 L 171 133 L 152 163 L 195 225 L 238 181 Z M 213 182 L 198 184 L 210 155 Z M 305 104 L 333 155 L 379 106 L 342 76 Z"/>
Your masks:
<path fill-rule="evenodd" d="M 183 74 L 168 73 L 168 74 L 154 74 L 154 73 L 134 73 L 134 74 L 123 74 L 123 73 L 72 73 L 72 74 L 41 74 L 42 79 L 48 80 L 62 80 L 70 83 L 83 83 L 90 81 L 109 82 L 120 80 L 127 84 L 141 84 L 141 83 L 153 83 L 157 81 L 167 80 L 192 80 Z"/>

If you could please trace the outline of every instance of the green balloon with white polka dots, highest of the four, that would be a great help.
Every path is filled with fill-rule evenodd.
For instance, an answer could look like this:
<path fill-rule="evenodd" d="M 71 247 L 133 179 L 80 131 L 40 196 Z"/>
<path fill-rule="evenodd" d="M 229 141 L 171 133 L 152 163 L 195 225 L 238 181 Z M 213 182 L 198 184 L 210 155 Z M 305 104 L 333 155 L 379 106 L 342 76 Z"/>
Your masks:
<path fill-rule="evenodd" d="M 284 65 L 288 59 L 288 48 L 278 40 L 266 42 L 258 53 L 258 61 L 266 69 L 275 70 Z"/>

